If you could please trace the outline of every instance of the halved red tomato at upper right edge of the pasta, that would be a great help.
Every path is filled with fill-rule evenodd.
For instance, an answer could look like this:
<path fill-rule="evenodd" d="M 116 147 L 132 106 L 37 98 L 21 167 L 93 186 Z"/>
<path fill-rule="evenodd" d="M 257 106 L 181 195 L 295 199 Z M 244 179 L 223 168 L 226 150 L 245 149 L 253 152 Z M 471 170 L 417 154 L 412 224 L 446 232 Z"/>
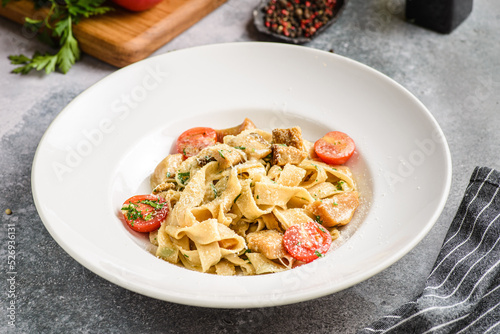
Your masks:
<path fill-rule="evenodd" d="M 314 152 L 331 165 L 345 164 L 355 149 L 354 140 L 340 131 L 328 132 L 314 143 Z"/>

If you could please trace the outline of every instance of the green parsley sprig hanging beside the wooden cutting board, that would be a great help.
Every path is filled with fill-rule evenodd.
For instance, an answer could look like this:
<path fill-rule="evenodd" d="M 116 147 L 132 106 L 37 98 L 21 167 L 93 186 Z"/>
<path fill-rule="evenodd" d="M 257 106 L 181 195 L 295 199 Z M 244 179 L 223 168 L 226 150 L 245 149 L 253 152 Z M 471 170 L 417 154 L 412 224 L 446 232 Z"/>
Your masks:
<path fill-rule="evenodd" d="M 11 0 L 2 0 L 5 6 Z M 28 74 L 32 70 L 45 71 L 46 74 L 56 70 L 67 73 L 80 59 L 78 41 L 73 35 L 73 25 L 78 24 L 82 18 L 102 15 L 111 7 L 102 6 L 105 0 L 34 0 L 35 7 L 48 7 L 47 15 L 40 20 L 26 17 L 25 27 L 37 32 L 40 40 L 51 46 L 58 46 L 55 53 L 35 52 L 30 58 L 23 54 L 9 56 L 13 65 L 20 65 L 13 73 Z"/>

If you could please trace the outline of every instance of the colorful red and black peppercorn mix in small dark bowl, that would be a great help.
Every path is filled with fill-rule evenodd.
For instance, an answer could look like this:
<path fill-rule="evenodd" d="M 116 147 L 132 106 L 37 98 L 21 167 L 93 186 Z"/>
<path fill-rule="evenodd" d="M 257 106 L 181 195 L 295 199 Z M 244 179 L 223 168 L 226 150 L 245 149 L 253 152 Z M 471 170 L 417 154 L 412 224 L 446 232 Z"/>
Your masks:
<path fill-rule="evenodd" d="M 270 0 L 263 8 L 264 25 L 286 37 L 312 37 L 333 18 L 337 0 Z"/>

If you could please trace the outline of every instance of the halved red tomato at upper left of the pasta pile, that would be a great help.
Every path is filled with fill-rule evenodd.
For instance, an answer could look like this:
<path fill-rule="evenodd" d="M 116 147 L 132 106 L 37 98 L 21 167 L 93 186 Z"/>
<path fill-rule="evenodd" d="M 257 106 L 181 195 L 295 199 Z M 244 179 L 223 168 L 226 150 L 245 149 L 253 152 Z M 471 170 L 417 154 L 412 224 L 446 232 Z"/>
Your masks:
<path fill-rule="evenodd" d="M 217 144 L 217 133 L 212 128 L 192 128 L 177 138 L 177 152 L 184 158 L 197 155 L 202 149 Z"/>

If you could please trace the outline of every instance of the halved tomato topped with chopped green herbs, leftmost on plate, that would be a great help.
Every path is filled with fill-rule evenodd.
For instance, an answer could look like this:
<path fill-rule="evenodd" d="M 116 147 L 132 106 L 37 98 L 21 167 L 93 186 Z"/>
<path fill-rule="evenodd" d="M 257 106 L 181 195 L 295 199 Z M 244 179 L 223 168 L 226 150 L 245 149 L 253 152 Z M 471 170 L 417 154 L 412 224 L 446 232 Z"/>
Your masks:
<path fill-rule="evenodd" d="M 156 195 L 130 197 L 121 210 L 130 228 L 137 232 L 157 230 L 168 214 L 165 199 Z"/>

